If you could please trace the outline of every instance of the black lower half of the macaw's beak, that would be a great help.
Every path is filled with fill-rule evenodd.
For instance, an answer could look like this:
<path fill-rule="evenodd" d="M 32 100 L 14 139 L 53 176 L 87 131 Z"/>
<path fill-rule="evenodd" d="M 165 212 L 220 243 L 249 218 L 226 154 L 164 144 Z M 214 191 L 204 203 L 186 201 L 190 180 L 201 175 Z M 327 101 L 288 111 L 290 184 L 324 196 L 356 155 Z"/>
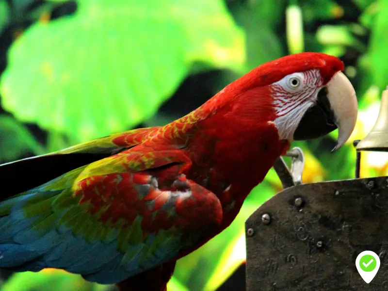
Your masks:
<path fill-rule="evenodd" d="M 294 132 L 294 140 L 314 139 L 337 129 L 334 123 L 334 113 L 330 109 L 327 89 L 323 87 L 318 92 L 317 103 L 310 107 L 303 115 Z"/>

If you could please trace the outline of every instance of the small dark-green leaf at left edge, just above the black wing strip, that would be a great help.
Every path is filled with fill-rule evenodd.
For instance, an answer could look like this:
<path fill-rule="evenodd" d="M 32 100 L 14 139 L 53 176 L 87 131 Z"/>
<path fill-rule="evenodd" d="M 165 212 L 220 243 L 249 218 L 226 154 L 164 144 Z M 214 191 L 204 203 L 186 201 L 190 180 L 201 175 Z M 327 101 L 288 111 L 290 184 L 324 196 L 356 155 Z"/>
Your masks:
<path fill-rule="evenodd" d="M 9 162 L 26 153 L 43 154 L 42 146 L 15 118 L 0 115 L 0 160 Z"/>

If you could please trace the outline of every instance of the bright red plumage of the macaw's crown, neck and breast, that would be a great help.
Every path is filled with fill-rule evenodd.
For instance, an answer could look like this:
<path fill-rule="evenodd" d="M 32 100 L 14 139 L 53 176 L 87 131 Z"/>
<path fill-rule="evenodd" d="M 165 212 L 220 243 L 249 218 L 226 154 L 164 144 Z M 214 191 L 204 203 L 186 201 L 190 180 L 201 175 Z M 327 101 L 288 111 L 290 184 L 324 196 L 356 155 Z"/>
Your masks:
<path fill-rule="evenodd" d="M 219 198 L 222 222 L 208 239 L 230 225 L 245 197 L 263 180 L 275 159 L 289 149 L 289 141 L 279 140 L 272 123 L 276 116 L 270 85 L 291 73 L 311 69 L 318 69 L 326 84 L 344 66 L 337 58 L 320 53 L 290 55 L 260 65 L 194 112 L 157 129 L 158 134 L 150 140 L 185 145 L 181 151 L 192 165 L 182 173 Z"/>

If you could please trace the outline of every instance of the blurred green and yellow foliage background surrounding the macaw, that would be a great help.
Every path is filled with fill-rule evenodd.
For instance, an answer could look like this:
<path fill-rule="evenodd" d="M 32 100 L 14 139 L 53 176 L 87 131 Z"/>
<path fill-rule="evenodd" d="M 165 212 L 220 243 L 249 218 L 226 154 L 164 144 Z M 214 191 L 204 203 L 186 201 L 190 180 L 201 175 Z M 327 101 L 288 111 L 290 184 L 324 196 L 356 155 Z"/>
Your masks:
<path fill-rule="evenodd" d="M 163 125 L 301 51 L 344 61 L 360 107 L 351 141 L 362 139 L 388 85 L 387 15 L 388 0 L 0 0 L 0 162 Z M 330 153 L 336 135 L 294 143 L 304 182 L 354 177 L 351 142 Z M 365 153 L 361 177 L 387 165 Z M 178 261 L 169 291 L 244 290 L 243 272 L 226 281 L 243 270 L 244 221 L 279 191 L 271 170 L 230 227 Z M 4 277 L 3 291 L 113 290 L 52 269 Z"/>

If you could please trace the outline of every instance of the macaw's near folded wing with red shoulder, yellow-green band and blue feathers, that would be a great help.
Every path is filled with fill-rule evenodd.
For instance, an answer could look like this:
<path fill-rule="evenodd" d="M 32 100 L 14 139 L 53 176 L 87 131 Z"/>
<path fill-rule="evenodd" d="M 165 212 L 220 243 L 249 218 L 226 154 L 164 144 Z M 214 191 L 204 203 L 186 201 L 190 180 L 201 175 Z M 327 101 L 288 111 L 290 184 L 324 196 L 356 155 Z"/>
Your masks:
<path fill-rule="evenodd" d="M 0 267 L 109 284 L 176 258 L 222 220 L 188 167 L 182 150 L 139 145 L 2 202 Z"/>

